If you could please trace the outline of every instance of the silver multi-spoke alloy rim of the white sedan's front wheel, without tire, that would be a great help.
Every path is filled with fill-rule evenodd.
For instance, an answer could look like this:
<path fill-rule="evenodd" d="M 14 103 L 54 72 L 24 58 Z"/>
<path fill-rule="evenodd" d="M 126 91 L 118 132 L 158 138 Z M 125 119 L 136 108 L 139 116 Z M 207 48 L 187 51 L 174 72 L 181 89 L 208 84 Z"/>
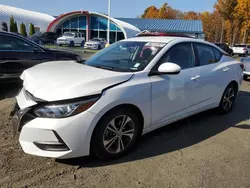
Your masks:
<path fill-rule="evenodd" d="M 134 135 L 134 121 L 127 115 L 117 116 L 104 131 L 103 146 L 109 153 L 120 153 L 128 148 Z"/>

